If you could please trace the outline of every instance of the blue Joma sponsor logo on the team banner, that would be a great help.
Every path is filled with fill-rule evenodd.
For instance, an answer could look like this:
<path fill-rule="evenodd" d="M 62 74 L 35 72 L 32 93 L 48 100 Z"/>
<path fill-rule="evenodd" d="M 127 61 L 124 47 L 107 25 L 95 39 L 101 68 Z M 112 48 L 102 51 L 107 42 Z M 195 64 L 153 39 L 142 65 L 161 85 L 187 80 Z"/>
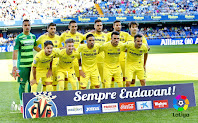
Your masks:
<path fill-rule="evenodd" d="M 85 114 L 92 114 L 92 113 L 100 113 L 101 107 L 99 104 L 96 105 L 85 105 L 84 106 Z"/>

